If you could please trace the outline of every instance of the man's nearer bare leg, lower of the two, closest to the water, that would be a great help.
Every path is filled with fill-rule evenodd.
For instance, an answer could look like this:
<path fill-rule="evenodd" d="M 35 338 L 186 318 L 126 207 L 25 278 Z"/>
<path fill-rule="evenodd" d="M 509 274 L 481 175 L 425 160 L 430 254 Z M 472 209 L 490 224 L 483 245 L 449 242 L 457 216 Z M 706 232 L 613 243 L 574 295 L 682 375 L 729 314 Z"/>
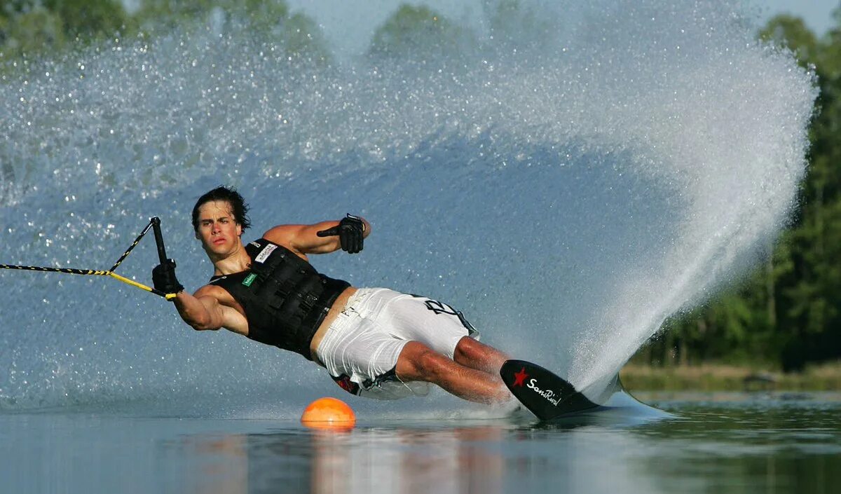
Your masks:
<path fill-rule="evenodd" d="M 431 382 L 471 402 L 493 404 L 510 400 L 508 389 L 497 376 L 459 364 L 417 341 L 403 347 L 395 370 L 403 381 Z"/>

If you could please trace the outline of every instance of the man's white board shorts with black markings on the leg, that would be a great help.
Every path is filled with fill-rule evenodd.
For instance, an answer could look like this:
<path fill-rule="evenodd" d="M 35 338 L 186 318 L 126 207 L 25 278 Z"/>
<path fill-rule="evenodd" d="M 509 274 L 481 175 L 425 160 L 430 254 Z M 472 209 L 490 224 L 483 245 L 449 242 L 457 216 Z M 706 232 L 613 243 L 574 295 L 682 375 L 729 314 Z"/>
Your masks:
<path fill-rule="evenodd" d="M 360 288 L 331 323 L 315 357 L 348 392 L 394 399 L 426 395 L 426 382 L 402 382 L 394 374 L 397 358 L 410 341 L 452 359 L 465 336 L 479 333 L 462 313 L 426 297 L 388 288 Z"/>

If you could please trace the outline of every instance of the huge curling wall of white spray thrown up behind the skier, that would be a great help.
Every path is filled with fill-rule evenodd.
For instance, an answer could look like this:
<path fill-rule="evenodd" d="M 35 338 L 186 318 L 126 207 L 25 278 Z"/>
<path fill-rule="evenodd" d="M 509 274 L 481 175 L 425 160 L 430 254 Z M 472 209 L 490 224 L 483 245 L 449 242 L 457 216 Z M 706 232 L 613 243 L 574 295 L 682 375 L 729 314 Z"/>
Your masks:
<path fill-rule="evenodd" d="M 735 2 L 544 8 L 557 30 L 532 50 L 497 37 L 324 67 L 203 30 L 37 65 L 0 86 L 0 261 L 106 268 L 160 216 L 194 289 L 212 266 L 189 210 L 226 183 L 251 202 L 246 239 L 362 214 L 362 255 L 317 268 L 440 297 L 598 393 L 785 224 L 816 89 Z M 148 282 L 154 264 L 141 245 L 120 272 Z M 248 414 L 261 397 L 294 415 L 336 392 L 298 356 L 194 334 L 119 283 L 0 282 L 0 408 L 164 397 Z"/>

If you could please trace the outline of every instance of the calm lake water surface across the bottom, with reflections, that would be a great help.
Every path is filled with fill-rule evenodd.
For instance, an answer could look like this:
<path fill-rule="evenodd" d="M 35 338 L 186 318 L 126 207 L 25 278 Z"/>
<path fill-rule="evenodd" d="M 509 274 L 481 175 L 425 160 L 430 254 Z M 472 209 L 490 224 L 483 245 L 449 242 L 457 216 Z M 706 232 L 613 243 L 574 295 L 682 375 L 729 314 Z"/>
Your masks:
<path fill-rule="evenodd" d="M 835 492 L 841 394 L 643 395 L 531 418 L 0 415 L 4 492 Z M 383 405 L 387 407 L 388 405 Z M 134 409 L 132 409 L 134 408 Z"/>

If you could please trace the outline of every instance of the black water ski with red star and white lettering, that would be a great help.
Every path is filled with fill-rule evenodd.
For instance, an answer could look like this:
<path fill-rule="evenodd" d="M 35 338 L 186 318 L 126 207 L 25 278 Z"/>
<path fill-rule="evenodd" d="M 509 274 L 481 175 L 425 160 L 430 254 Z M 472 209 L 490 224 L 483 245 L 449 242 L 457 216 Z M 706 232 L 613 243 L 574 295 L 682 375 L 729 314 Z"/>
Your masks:
<path fill-rule="evenodd" d="M 541 420 L 598 406 L 569 382 L 526 360 L 505 360 L 500 376 L 511 394 Z"/>

